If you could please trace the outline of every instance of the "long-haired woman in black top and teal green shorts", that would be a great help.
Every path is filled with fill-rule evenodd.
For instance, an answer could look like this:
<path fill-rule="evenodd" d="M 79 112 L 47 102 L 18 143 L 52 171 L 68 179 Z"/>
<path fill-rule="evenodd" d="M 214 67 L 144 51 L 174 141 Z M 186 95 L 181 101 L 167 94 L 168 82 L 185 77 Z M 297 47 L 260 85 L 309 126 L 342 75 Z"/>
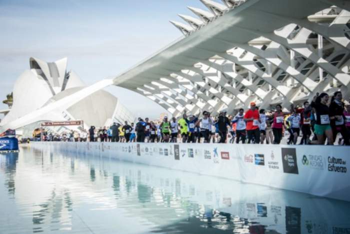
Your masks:
<path fill-rule="evenodd" d="M 311 107 L 315 110 L 315 125 L 314 133 L 317 136 L 317 140 L 311 142 L 311 144 L 323 145 L 325 137 L 328 144 L 333 144 L 333 132 L 330 127 L 330 110 L 327 105 L 329 96 L 326 93 L 321 93 L 319 96 L 314 96 L 311 102 Z"/>

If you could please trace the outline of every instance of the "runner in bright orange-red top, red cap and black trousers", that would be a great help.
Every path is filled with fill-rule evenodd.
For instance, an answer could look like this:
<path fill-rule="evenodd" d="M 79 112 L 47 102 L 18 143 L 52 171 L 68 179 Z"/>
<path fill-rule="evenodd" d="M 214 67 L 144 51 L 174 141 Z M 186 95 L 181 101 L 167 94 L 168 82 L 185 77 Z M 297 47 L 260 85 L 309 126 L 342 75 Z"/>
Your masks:
<path fill-rule="evenodd" d="M 254 143 L 258 144 L 260 142 L 260 115 L 255 102 L 250 102 L 250 109 L 245 113 L 244 121 L 246 122 L 247 143 L 254 140 Z"/>

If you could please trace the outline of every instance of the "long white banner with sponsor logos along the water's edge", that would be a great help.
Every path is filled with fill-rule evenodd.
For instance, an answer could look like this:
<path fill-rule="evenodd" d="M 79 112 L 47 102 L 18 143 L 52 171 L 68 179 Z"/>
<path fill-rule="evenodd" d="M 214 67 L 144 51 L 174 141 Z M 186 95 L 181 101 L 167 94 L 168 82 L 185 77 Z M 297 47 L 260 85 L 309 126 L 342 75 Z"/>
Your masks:
<path fill-rule="evenodd" d="M 347 146 L 113 142 L 31 144 L 350 201 L 350 148 Z"/>

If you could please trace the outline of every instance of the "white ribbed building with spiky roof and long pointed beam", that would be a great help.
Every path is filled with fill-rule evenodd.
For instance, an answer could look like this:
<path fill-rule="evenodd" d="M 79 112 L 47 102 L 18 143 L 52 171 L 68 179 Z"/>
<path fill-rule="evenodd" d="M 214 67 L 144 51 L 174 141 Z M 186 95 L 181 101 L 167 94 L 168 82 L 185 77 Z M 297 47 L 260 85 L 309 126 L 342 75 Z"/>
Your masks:
<path fill-rule="evenodd" d="M 32 122 L 109 85 L 140 93 L 174 116 L 184 110 L 232 113 L 251 101 L 266 109 L 289 107 L 338 90 L 350 97 L 350 1 L 200 2 L 202 9 L 188 7 L 192 16 L 179 15 L 182 23 L 171 22 L 184 34 L 175 43 L 7 127 Z"/>

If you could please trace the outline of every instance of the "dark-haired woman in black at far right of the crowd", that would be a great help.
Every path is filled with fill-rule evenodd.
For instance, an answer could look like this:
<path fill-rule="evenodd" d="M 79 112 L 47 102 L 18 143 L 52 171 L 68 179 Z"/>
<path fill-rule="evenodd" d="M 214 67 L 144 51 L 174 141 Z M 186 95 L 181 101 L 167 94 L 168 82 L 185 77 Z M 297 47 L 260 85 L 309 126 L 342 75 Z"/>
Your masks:
<path fill-rule="evenodd" d="M 344 109 L 341 92 L 337 91 L 331 98 L 329 105 L 330 126 L 333 131 L 333 141 L 335 141 L 336 135 L 340 133 L 344 139 L 344 144 L 350 145 L 349 136 L 345 126 Z"/>

